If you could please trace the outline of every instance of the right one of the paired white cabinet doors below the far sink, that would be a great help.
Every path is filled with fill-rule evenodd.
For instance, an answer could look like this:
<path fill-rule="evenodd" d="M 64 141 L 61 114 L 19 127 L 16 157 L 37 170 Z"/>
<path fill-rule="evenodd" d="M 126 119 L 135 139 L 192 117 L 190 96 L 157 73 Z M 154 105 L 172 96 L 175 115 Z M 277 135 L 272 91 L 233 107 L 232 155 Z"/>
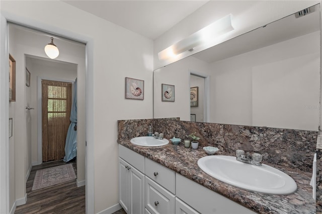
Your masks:
<path fill-rule="evenodd" d="M 144 174 L 130 166 L 130 211 L 128 213 L 144 213 Z"/>

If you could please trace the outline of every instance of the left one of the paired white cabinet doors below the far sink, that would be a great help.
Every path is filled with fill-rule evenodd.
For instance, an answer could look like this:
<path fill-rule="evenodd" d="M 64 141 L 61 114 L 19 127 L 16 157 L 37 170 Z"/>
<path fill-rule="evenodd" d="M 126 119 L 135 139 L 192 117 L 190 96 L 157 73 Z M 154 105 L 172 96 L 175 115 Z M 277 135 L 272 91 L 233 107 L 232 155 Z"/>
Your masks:
<path fill-rule="evenodd" d="M 119 158 L 119 202 L 126 213 L 129 213 L 130 205 L 130 181 L 129 164 Z"/>

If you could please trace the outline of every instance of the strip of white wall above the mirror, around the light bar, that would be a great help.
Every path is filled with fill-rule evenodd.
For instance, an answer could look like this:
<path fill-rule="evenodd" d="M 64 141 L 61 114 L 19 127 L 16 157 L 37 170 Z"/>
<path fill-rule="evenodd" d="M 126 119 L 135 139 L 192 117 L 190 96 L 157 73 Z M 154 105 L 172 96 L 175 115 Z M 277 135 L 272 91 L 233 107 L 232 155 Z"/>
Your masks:
<path fill-rule="evenodd" d="M 154 69 L 168 65 L 181 58 L 190 56 L 318 3 L 320 1 L 209 1 L 165 34 L 154 40 Z M 217 41 L 202 47 L 196 47 L 192 52 L 186 51 L 176 58 L 165 61 L 158 59 L 158 52 L 185 39 L 228 14 L 232 14 L 233 16 L 233 31 L 220 37 Z"/>

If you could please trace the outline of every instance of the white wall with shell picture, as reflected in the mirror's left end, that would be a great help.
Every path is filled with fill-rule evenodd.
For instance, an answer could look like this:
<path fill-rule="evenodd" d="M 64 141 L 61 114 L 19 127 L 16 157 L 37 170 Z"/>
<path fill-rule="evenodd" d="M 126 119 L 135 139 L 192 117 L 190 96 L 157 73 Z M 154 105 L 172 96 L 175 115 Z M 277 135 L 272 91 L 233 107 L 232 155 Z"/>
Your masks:
<path fill-rule="evenodd" d="M 190 73 L 209 75 L 209 64 L 194 57 L 182 59 L 176 63 L 154 71 L 154 118 L 180 117 L 190 121 Z M 161 84 L 175 85 L 175 101 L 161 99 Z"/>

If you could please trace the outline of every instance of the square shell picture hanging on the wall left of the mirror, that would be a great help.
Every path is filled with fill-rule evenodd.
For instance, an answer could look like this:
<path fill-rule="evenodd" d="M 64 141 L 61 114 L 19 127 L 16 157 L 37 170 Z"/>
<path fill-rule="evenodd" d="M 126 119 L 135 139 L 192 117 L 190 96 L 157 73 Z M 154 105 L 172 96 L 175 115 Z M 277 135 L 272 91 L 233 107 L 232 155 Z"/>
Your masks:
<path fill-rule="evenodd" d="M 144 80 L 125 77 L 125 98 L 144 99 Z"/>

